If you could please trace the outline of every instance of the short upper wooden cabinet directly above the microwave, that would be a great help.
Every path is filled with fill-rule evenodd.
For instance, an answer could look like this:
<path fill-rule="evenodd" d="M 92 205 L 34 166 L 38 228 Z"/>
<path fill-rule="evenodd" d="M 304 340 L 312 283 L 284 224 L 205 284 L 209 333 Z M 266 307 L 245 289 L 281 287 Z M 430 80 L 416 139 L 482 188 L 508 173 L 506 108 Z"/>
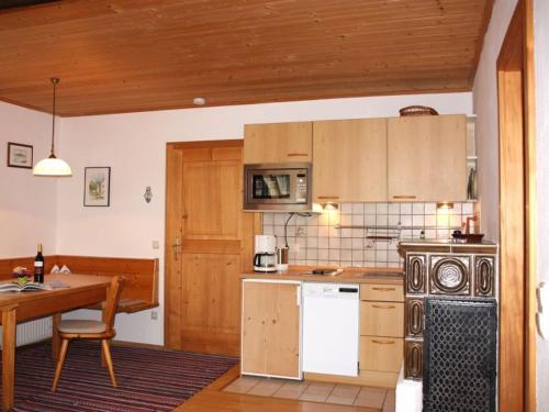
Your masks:
<path fill-rule="evenodd" d="M 312 162 L 312 122 L 244 126 L 244 164 Z"/>

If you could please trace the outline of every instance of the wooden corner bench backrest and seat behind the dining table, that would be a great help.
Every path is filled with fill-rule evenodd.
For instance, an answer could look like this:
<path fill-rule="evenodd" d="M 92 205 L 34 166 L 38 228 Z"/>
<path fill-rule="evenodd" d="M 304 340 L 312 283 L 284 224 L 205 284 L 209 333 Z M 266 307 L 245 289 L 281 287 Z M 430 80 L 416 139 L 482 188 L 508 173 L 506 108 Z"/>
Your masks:
<path fill-rule="evenodd" d="M 11 278 L 15 266 L 24 266 L 32 271 L 34 258 L 0 259 L 0 279 Z M 134 313 L 158 307 L 158 259 L 97 257 L 97 256 L 46 256 L 46 274 L 54 265 L 66 265 L 71 275 L 115 276 L 124 278 L 124 289 L 119 303 L 119 312 Z M 71 276 L 67 275 L 67 276 Z M 101 309 L 100 305 L 88 309 Z"/>

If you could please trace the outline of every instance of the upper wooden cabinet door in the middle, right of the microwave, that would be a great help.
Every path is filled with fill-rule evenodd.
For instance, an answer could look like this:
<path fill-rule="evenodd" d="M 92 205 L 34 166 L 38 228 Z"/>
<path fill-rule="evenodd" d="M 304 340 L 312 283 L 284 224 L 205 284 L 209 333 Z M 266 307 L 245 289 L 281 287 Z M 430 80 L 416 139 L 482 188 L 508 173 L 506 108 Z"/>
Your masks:
<path fill-rule="evenodd" d="M 313 199 L 386 200 L 386 120 L 313 123 Z"/>

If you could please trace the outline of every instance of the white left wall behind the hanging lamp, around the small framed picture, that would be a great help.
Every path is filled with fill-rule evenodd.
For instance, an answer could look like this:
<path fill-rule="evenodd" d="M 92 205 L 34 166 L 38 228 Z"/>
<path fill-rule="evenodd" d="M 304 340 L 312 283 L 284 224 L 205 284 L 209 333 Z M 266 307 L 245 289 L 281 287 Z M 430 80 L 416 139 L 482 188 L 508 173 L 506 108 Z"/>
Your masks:
<path fill-rule="evenodd" d="M 0 102 L 0 258 L 56 249 L 57 180 L 7 166 L 8 142 L 34 146 L 34 163 L 49 155 L 52 116 Z"/>

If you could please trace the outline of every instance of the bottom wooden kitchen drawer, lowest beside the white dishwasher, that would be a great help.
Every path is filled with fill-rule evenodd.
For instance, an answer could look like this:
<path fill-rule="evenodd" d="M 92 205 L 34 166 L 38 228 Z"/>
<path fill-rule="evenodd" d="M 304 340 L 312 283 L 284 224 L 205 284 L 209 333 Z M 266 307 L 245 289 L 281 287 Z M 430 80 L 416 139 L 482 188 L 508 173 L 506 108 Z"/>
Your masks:
<path fill-rule="evenodd" d="M 360 336 L 360 369 L 397 372 L 403 350 L 402 338 Z"/>

